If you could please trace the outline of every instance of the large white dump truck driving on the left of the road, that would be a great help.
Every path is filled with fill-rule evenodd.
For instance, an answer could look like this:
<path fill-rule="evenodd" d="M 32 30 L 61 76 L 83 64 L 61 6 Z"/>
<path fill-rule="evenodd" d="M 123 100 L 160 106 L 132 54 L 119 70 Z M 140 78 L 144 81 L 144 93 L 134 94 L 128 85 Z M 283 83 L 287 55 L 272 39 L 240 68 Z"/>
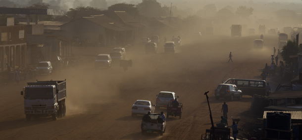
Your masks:
<path fill-rule="evenodd" d="M 64 81 L 28 82 L 21 91 L 26 120 L 51 116 L 52 120 L 66 114 L 66 79 Z"/>

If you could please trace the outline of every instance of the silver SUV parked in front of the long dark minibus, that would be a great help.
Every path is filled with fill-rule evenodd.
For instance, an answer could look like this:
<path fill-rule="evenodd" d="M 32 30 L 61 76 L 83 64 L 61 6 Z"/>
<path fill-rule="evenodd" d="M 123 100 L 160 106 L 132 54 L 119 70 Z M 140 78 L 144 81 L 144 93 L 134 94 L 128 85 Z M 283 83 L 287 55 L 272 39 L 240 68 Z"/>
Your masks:
<path fill-rule="evenodd" d="M 214 95 L 216 100 L 219 100 L 219 98 L 230 99 L 231 101 L 234 98 L 242 99 L 242 91 L 234 84 L 219 84 L 215 89 Z"/>

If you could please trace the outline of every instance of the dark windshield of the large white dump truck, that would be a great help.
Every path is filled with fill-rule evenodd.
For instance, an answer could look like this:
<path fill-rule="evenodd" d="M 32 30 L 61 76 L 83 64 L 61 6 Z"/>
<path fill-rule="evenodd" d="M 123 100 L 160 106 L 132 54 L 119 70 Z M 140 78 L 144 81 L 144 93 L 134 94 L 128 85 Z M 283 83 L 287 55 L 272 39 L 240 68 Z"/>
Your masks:
<path fill-rule="evenodd" d="M 53 99 L 53 88 L 27 88 L 25 99 Z"/>

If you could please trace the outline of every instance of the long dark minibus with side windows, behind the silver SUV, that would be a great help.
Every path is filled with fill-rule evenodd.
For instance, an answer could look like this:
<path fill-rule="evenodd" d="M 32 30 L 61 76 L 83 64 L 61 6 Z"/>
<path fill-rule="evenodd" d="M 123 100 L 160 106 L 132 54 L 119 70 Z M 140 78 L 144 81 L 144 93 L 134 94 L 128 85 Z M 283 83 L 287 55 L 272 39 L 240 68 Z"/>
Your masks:
<path fill-rule="evenodd" d="M 224 84 L 234 84 L 242 91 L 243 95 L 253 96 L 261 95 L 265 96 L 265 80 L 254 80 L 254 79 L 228 79 Z"/>

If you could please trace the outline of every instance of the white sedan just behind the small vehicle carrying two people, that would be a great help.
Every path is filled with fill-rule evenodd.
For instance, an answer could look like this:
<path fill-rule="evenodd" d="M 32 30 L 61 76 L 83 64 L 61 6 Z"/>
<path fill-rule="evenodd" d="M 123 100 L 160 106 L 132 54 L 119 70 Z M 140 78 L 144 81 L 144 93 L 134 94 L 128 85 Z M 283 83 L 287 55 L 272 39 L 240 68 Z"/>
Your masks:
<path fill-rule="evenodd" d="M 151 101 L 147 100 L 137 100 L 133 105 L 132 105 L 132 116 L 135 116 L 137 114 L 146 114 L 150 111 L 150 113 L 155 112 L 155 105 L 151 103 Z"/>

